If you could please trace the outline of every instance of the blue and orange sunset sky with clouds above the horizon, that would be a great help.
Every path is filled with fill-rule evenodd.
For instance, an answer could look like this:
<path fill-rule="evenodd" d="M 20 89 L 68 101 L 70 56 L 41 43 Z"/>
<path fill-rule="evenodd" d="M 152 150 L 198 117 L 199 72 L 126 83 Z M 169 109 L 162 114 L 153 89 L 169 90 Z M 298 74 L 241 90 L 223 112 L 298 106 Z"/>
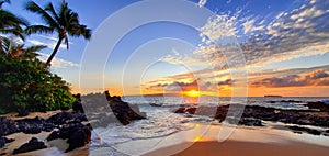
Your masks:
<path fill-rule="evenodd" d="M 329 97 L 329 1 L 66 1 L 93 31 L 90 41 L 69 37 L 52 63 L 75 93 Z M 25 2 L 3 9 L 43 23 Z M 47 45 L 44 60 L 56 42 L 24 41 Z"/>

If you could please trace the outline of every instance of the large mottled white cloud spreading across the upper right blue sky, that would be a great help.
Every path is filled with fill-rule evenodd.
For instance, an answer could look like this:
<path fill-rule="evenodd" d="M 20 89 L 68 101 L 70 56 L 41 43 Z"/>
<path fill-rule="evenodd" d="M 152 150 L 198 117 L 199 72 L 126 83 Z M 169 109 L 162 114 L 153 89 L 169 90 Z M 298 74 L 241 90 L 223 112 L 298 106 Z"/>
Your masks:
<path fill-rule="evenodd" d="M 270 63 L 325 54 L 329 52 L 328 7 L 329 1 L 319 0 L 280 12 L 272 19 L 240 18 L 241 11 L 234 15 L 213 16 L 198 29 L 203 44 L 194 51 L 194 56 L 166 60 L 209 65 L 225 63 L 242 53 L 248 66 L 260 67 Z M 243 34 L 248 40 L 238 43 L 235 40 L 236 34 Z M 230 52 L 230 57 L 227 57 L 227 52 Z"/>

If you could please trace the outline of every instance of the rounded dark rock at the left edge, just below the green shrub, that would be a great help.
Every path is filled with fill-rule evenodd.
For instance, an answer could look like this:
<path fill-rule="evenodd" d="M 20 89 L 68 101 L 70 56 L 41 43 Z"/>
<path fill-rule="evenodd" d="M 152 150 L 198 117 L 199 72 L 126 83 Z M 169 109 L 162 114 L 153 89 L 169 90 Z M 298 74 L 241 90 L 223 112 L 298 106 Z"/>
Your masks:
<path fill-rule="evenodd" d="M 0 116 L 0 136 L 19 132 L 15 122 L 5 116 Z"/>

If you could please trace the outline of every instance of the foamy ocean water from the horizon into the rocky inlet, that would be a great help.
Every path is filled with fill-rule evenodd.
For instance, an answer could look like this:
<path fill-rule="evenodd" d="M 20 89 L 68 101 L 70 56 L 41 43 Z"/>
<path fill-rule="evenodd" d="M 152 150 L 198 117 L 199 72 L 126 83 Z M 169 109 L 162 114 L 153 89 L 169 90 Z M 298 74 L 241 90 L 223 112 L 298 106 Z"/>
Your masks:
<path fill-rule="evenodd" d="M 307 102 L 328 101 L 327 99 L 329 98 L 254 97 L 247 98 L 245 104 L 307 110 L 308 108 L 305 107 Z M 164 137 L 180 131 L 194 129 L 195 123 L 218 124 L 218 121 L 208 116 L 173 112 L 180 105 L 226 105 L 231 103 L 231 98 L 218 97 L 122 97 L 122 100 L 138 105 L 141 112 L 147 113 L 147 119 L 133 121 L 126 126 L 113 123 L 106 127 L 94 129 L 91 147 L 113 146 L 137 140 Z"/>

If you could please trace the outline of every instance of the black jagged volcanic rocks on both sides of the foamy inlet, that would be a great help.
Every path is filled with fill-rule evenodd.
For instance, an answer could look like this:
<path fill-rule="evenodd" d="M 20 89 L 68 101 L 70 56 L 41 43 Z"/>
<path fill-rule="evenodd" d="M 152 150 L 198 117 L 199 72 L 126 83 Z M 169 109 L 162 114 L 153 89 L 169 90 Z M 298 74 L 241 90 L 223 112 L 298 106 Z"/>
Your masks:
<path fill-rule="evenodd" d="M 11 119 L 8 116 L 0 116 L 0 148 L 5 148 L 7 144 L 14 142 L 14 140 L 7 137 L 10 134 L 38 134 L 41 132 L 48 132 L 45 140 L 39 141 L 32 137 L 29 142 L 16 147 L 12 154 L 48 148 L 47 143 L 58 138 L 64 140 L 68 144 L 68 147 L 64 149 L 64 152 L 67 153 L 89 144 L 91 141 L 92 127 L 104 127 L 110 123 L 127 125 L 133 120 L 147 118 L 146 113 L 140 112 L 137 105 L 122 101 L 121 97 L 111 97 L 107 91 L 105 91 L 104 94 L 100 93 L 91 94 L 87 98 L 84 97 L 83 103 L 81 102 L 81 96 L 77 96 L 76 98 L 78 100 L 75 102 L 72 111 L 57 112 L 48 118 L 35 116 Z M 283 102 L 296 103 L 299 101 Z M 98 105 L 95 103 L 105 104 Z M 241 107 L 243 107 L 243 112 L 237 114 L 237 116 L 240 115 L 241 118 L 228 118 L 228 110 L 231 110 L 231 108 L 239 109 Z M 174 112 L 189 115 L 208 115 L 219 122 L 226 121 L 228 123 L 235 123 L 238 121 L 240 125 L 245 126 L 265 126 L 266 123 L 264 121 L 281 122 L 287 124 L 284 125 L 284 127 L 292 130 L 295 133 L 329 136 L 329 104 L 318 101 L 308 102 L 306 103 L 306 107 L 309 109 L 284 110 L 260 105 L 245 107 L 241 104 L 218 107 L 182 105 Z M 232 109 L 230 113 L 235 114 L 238 112 L 235 112 Z M 5 154 L 2 153 L 0 155 Z"/>

